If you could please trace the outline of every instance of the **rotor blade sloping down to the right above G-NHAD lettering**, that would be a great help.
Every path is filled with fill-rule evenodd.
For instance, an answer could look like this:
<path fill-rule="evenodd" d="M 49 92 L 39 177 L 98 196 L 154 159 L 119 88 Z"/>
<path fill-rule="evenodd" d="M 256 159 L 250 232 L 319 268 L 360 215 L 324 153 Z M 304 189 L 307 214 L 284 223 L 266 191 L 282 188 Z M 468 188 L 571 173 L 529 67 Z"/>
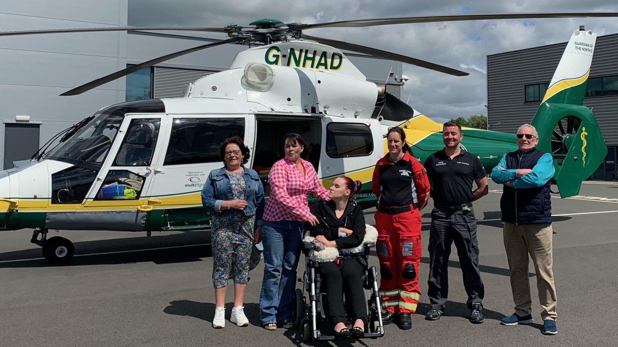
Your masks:
<path fill-rule="evenodd" d="M 358 44 L 348 43 L 348 42 L 344 42 L 344 41 L 331 40 L 329 38 L 320 38 L 320 37 L 316 37 L 316 36 L 309 36 L 309 35 L 305 35 L 305 34 L 302 34 L 301 37 L 302 38 L 306 38 L 307 40 L 316 41 L 318 43 L 328 44 L 328 46 L 332 46 L 334 48 L 345 49 L 347 51 L 354 51 L 354 52 L 359 52 L 359 53 L 364 53 L 364 54 L 370 54 L 371 56 L 383 57 L 383 58 L 391 59 L 391 60 L 394 60 L 394 61 L 405 62 L 407 64 L 412 64 L 412 65 L 417 65 L 417 66 L 420 66 L 420 67 L 424 67 L 425 69 L 436 70 L 438 72 L 448 73 L 449 75 L 454 75 L 454 76 L 467 76 L 467 75 L 470 75 L 470 73 L 463 72 L 463 71 L 460 71 L 460 70 L 451 69 L 450 67 L 446 67 L 446 66 L 442 66 L 442 65 L 438 65 L 438 64 L 433 64 L 433 62 L 421 61 L 420 59 L 416 59 L 416 58 L 412 58 L 412 57 L 407 57 L 407 56 L 402 56 L 401 54 L 397 54 L 397 53 L 393 53 L 393 52 L 382 51 L 381 49 L 375 49 L 375 48 L 370 48 L 370 47 L 366 47 L 366 46 L 360 46 Z"/>

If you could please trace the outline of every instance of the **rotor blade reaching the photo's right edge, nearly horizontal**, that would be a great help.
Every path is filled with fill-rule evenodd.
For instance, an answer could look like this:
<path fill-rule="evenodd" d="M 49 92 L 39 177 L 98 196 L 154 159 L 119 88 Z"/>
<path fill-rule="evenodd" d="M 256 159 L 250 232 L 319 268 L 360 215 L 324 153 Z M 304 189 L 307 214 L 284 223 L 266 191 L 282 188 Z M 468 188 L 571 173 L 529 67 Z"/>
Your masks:
<path fill-rule="evenodd" d="M 396 17 L 360 20 L 339 20 L 337 22 L 297 24 L 294 30 L 315 28 L 350 28 L 375 27 L 377 25 L 455 22 L 462 20 L 488 19 L 540 19 L 540 18 L 583 18 L 583 17 L 618 17 L 618 12 L 545 12 L 545 13 L 511 13 L 511 14 L 460 14 L 460 15 L 428 15 L 424 17 Z"/>

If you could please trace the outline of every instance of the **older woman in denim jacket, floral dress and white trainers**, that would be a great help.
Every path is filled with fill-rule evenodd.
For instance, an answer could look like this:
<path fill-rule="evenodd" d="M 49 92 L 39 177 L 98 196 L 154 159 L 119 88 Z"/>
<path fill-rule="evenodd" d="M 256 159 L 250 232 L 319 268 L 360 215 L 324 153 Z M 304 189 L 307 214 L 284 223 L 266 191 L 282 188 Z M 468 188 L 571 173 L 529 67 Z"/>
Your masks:
<path fill-rule="evenodd" d="M 258 173 L 243 166 L 249 149 L 238 136 L 221 143 L 224 167 L 212 170 L 201 192 L 204 208 L 211 212 L 213 246 L 214 328 L 225 327 L 227 280 L 234 280 L 234 307 L 230 322 L 248 325 L 243 298 L 249 280 L 254 243 L 260 242 L 264 188 Z"/>

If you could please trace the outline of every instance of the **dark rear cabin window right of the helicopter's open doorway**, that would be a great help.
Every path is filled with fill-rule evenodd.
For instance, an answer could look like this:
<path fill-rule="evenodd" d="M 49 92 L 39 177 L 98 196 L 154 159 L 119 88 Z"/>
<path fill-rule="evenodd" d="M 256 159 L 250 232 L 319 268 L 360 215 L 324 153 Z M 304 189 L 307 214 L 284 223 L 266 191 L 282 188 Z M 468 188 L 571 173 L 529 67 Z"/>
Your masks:
<path fill-rule="evenodd" d="M 373 138 L 365 124 L 330 123 L 326 127 L 326 154 L 329 157 L 366 156 L 371 152 Z"/>

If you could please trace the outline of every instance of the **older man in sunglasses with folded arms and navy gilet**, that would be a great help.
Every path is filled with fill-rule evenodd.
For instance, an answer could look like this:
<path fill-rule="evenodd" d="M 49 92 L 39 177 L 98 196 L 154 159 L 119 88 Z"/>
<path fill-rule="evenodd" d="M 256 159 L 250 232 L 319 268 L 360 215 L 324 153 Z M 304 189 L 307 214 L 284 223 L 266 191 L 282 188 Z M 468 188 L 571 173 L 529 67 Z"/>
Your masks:
<path fill-rule="evenodd" d="M 500 209 L 504 228 L 504 248 L 510 269 L 515 313 L 501 320 L 503 325 L 532 322 L 532 299 L 528 282 L 528 254 L 535 265 L 539 300 L 543 310 L 543 333 L 554 335 L 556 328 L 556 286 L 552 272 L 551 154 L 535 148 L 536 128 L 524 124 L 517 130 L 517 151 L 504 154 L 491 171 L 491 179 L 503 183 Z"/>

